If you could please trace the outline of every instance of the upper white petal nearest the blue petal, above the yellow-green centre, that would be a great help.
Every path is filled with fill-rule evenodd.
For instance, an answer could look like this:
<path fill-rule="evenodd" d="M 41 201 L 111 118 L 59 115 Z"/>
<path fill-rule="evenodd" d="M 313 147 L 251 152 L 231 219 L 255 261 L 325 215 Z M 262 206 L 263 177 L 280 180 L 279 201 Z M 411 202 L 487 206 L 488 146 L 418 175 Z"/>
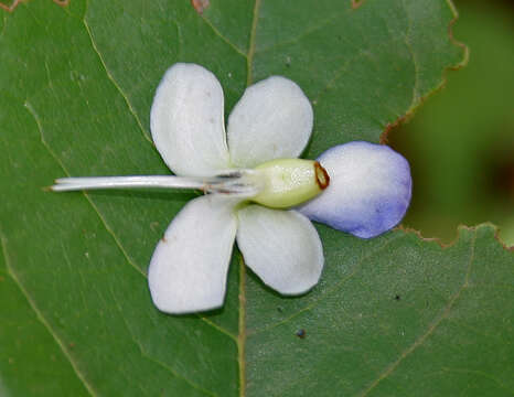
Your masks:
<path fill-rule="evenodd" d="M 272 76 L 245 90 L 228 117 L 228 148 L 236 167 L 297 158 L 312 131 L 309 99 L 290 79 Z"/>

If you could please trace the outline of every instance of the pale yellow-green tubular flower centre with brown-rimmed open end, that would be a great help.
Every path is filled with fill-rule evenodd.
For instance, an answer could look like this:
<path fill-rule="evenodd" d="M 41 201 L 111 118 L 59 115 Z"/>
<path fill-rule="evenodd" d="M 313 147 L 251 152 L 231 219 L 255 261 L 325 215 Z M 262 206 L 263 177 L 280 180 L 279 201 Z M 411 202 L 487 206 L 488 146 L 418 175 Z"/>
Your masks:
<path fill-rule="evenodd" d="M 256 167 L 255 171 L 263 185 L 251 201 L 272 208 L 304 203 L 330 183 L 326 170 L 312 160 L 278 159 Z"/>

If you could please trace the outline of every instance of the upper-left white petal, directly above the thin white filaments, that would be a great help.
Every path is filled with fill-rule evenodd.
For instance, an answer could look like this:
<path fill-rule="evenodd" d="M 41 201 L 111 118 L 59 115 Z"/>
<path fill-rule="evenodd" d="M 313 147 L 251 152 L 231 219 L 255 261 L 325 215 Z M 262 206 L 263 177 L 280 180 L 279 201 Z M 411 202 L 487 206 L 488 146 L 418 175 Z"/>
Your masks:
<path fill-rule="evenodd" d="M 195 64 L 178 63 L 157 88 L 150 114 L 152 138 L 168 167 L 179 175 L 211 175 L 228 168 L 223 89 Z"/>

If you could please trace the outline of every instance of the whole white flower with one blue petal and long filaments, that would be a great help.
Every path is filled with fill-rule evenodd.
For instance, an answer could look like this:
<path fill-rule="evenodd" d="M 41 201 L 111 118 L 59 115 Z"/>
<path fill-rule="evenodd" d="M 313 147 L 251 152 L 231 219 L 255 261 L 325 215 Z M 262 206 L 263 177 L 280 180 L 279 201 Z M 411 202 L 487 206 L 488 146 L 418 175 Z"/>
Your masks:
<path fill-rule="evenodd" d="M 65 178 L 52 186 L 210 193 L 180 211 L 152 255 L 148 282 L 163 312 L 219 308 L 235 240 L 267 286 L 304 293 L 317 285 L 324 261 L 310 219 L 371 238 L 397 225 L 410 201 L 409 165 L 386 146 L 350 142 L 318 161 L 297 159 L 310 139 L 313 112 L 293 82 L 272 76 L 248 87 L 227 133 L 223 107 L 223 89 L 211 72 L 175 64 L 157 89 L 150 127 L 176 176 Z"/>

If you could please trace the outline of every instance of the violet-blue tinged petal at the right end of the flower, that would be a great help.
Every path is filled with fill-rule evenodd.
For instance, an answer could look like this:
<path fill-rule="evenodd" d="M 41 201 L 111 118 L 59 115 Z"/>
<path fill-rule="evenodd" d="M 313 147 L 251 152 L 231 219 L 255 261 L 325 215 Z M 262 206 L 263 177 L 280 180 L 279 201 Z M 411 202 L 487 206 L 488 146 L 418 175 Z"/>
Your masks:
<path fill-rule="evenodd" d="M 329 187 L 298 210 L 310 219 L 361 238 L 396 226 L 410 203 L 410 168 L 389 147 L 355 141 L 318 158 L 330 175 Z"/>

